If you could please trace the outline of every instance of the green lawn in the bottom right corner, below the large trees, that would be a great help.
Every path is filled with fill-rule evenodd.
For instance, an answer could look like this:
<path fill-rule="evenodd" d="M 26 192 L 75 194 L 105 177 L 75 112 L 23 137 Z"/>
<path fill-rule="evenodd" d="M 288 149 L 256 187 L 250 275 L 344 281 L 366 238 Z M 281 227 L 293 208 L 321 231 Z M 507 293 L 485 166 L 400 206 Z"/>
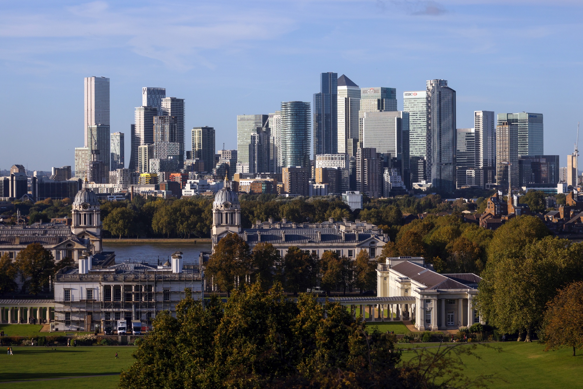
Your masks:
<path fill-rule="evenodd" d="M 399 347 L 436 346 L 437 344 L 399 344 Z M 463 373 L 468 377 L 494 374 L 489 388 L 575 388 L 583 382 L 583 352 L 572 356 L 572 349 L 544 352 L 544 345 L 524 342 L 489 343 L 494 348 L 477 345 L 475 353 L 482 359 L 463 356 Z M 463 345 L 465 347 L 465 345 Z M 413 356 L 403 352 L 403 359 Z"/>

